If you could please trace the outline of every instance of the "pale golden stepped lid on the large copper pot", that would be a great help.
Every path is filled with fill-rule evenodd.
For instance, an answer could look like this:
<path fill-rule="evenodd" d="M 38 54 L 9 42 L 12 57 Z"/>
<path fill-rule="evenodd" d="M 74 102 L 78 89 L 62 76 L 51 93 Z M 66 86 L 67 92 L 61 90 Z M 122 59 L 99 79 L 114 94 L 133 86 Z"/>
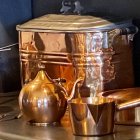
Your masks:
<path fill-rule="evenodd" d="M 131 20 L 112 17 L 48 14 L 17 26 L 20 31 L 96 32 L 130 26 Z"/>

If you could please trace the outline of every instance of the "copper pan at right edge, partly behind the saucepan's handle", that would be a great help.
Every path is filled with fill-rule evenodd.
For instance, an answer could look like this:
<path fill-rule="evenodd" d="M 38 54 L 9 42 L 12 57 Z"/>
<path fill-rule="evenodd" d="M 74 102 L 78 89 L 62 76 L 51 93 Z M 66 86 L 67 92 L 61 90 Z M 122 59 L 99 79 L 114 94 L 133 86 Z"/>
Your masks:
<path fill-rule="evenodd" d="M 102 92 L 105 97 L 114 98 L 117 104 L 140 99 L 140 88 L 127 88 Z M 115 116 L 116 124 L 140 125 L 140 107 L 118 111 Z"/>

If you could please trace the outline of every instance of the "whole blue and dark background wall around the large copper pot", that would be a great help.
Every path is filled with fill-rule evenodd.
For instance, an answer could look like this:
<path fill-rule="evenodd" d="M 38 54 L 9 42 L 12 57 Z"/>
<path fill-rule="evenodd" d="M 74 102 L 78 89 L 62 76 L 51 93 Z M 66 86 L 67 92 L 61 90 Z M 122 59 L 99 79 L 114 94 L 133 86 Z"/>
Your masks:
<path fill-rule="evenodd" d="M 70 0 L 69 0 L 70 1 Z M 73 1 L 73 0 L 71 0 Z M 83 14 L 123 16 L 140 28 L 140 0 L 79 0 Z M 0 48 L 18 42 L 16 25 L 49 13 L 60 13 L 62 0 L 1 0 Z M 135 85 L 140 86 L 140 33 L 134 38 Z M 20 89 L 18 45 L 0 52 L 0 92 Z"/>

